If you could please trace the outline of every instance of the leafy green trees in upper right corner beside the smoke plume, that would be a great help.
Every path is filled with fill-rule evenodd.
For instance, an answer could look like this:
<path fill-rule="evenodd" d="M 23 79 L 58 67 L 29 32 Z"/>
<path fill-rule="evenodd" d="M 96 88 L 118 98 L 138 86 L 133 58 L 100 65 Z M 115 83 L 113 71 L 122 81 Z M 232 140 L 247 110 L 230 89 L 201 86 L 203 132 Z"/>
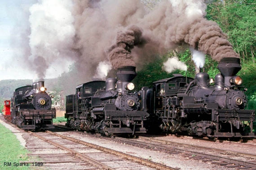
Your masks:
<path fill-rule="evenodd" d="M 252 0 L 215 0 L 207 7 L 207 18 L 227 33 L 234 50 L 245 63 L 256 55 L 256 4 Z"/>

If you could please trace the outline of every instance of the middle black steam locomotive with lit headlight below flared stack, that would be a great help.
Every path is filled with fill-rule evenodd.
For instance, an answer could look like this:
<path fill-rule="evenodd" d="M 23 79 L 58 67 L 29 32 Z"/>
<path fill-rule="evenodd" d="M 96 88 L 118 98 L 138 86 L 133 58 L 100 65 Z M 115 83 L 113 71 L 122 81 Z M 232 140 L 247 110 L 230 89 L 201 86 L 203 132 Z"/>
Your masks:
<path fill-rule="evenodd" d="M 87 82 L 66 96 L 67 126 L 105 135 L 146 132 L 143 121 L 149 114 L 141 103 L 143 92 L 132 91 L 135 67 L 119 68 L 116 75 L 118 81 Z"/>

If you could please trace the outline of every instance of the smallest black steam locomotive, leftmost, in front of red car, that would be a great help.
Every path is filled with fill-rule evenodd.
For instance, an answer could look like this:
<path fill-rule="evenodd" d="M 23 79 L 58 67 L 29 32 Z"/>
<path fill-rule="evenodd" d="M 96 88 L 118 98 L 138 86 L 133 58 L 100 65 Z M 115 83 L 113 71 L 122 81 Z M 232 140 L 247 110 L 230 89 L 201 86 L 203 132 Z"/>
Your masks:
<path fill-rule="evenodd" d="M 51 108 L 52 97 L 45 92 L 44 81 L 14 90 L 11 99 L 11 121 L 22 129 L 53 128 L 56 110 Z"/>

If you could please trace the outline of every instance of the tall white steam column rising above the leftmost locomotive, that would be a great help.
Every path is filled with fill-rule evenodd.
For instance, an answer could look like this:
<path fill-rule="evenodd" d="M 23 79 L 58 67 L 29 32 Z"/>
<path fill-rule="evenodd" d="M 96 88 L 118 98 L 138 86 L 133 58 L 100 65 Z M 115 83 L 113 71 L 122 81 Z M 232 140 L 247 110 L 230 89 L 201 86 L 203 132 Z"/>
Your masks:
<path fill-rule="evenodd" d="M 68 58 L 74 55 L 71 47 L 75 36 L 71 9 L 71 0 L 42 0 L 29 9 L 31 56 L 28 61 L 39 79 L 44 79 L 50 66 L 55 73 L 64 71 L 70 64 Z M 61 72 L 55 75 L 58 74 Z"/>

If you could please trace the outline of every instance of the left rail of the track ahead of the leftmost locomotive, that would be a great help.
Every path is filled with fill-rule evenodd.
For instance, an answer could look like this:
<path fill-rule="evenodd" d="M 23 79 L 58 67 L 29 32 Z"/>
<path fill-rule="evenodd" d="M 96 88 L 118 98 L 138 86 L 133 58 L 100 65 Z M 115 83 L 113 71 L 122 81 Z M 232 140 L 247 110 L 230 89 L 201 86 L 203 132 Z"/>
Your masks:
<path fill-rule="evenodd" d="M 85 156 L 85 155 L 83 155 L 83 154 L 81 154 L 81 153 L 79 153 L 79 152 L 76 152 L 76 151 L 73 150 L 73 149 L 69 149 L 69 148 L 63 146 L 62 144 L 58 144 L 58 143 L 56 143 L 56 142 L 53 142 L 52 140 L 49 140 L 49 139 L 47 139 L 47 138 L 45 138 L 45 137 L 43 137 L 43 136 L 37 135 L 37 134 L 35 134 L 35 133 L 31 132 L 31 131 L 28 131 L 28 132 L 29 132 L 31 135 L 36 136 L 36 137 L 40 138 L 41 140 L 44 140 L 44 141 L 46 141 L 46 142 L 48 142 L 48 143 L 50 143 L 50 144 L 53 144 L 53 145 L 57 146 L 58 148 L 64 149 L 64 150 L 66 150 L 67 152 L 72 153 L 72 154 L 74 154 L 75 156 L 80 157 L 81 159 L 83 159 L 83 160 L 85 160 L 85 161 L 88 161 L 88 162 L 92 163 L 93 165 L 98 166 L 98 167 L 101 168 L 101 169 L 115 170 L 115 169 L 113 169 L 113 168 L 111 168 L 111 167 L 109 167 L 109 166 L 106 166 L 105 164 L 103 164 L 103 163 L 101 163 L 101 162 L 99 162 L 99 161 L 96 161 L 95 159 L 92 159 L 92 158 L 90 158 L 90 157 L 87 157 L 87 156 Z"/>

